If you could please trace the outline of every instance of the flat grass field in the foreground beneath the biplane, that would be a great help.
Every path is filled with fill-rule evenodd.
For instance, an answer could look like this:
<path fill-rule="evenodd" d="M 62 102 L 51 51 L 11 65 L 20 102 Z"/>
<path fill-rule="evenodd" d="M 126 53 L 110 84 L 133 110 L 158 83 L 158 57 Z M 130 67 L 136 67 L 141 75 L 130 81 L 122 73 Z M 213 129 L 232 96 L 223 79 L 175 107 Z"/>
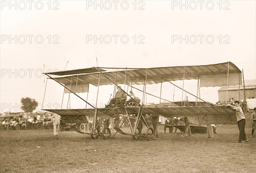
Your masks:
<path fill-rule="evenodd" d="M 246 113 L 247 137 L 251 134 Z M 1 173 L 256 173 L 256 137 L 238 139 L 237 125 L 217 125 L 214 139 L 207 134 L 163 133 L 146 141 L 117 134 L 91 139 L 73 130 L 1 130 Z M 167 130 L 168 131 L 168 130 Z"/>

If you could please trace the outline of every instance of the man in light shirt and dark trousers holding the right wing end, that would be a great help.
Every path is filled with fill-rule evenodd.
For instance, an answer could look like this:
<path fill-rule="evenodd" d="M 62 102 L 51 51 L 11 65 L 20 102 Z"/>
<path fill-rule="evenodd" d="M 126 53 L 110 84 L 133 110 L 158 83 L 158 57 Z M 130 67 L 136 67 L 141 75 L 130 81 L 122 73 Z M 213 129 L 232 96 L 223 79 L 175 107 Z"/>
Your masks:
<path fill-rule="evenodd" d="M 242 108 L 240 107 L 240 102 L 238 100 L 235 101 L 235 106 L 227 104 L 228 107 L 236 110 L 236 120 L 237 120 L 237 125 L 239 128 L 239 140 L 235 141 L 235 142 L 248 142 L 247 138 L 246 138 L 246 134 L 245 134 L 245 117 L 244 117 L 244 113 L 242 111 Z"/>

